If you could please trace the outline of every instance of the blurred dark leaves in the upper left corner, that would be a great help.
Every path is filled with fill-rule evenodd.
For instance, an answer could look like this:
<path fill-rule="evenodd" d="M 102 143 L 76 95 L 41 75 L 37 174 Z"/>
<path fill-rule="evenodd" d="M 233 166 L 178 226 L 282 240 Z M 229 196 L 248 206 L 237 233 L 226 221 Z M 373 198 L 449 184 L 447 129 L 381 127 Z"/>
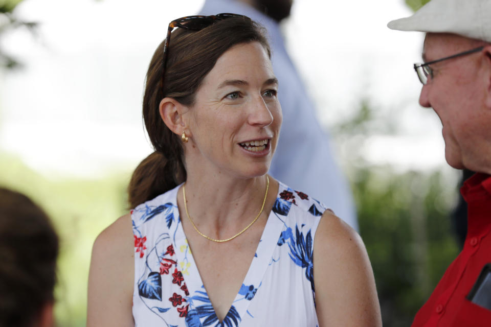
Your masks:
<path fill-rule="evenodd" d="M 35 32 L 36 22 L 23 21 L 15 15 L 15 8 L 23 0 L 0 0 L 0 41 L 2 37 L 13 29 L 25 27 L 32 33 Z M 15 58 L 5 53 L 0 42 L 0 68 L 12 69 L 20 66 Z"/>

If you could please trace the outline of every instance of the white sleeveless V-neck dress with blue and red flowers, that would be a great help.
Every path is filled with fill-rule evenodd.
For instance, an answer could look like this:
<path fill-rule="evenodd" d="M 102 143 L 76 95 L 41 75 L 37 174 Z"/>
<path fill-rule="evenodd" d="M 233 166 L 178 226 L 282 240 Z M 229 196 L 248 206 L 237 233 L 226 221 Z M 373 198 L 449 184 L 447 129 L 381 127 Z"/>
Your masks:
<path fill-rule="evenodd" d="M 220 322 L 184 235 L 178 189 L 131 212 L 136 326 L 318 326 L 313 248 L 324 205 L 280 183 L 249 271 Z"/>

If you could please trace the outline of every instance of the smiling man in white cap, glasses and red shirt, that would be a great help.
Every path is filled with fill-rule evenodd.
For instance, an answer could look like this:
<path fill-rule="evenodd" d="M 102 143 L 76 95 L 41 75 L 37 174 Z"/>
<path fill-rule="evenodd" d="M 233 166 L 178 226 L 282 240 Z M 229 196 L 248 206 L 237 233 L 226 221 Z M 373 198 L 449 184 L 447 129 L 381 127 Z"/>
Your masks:
<path fill-rule="evenodd" d="M 431 0 L 388 27 L 426 33 L 419 104 L 440 118 L 448 164 L 477 172 L 461 188 L 463 250 L 413 326 L 491 326 L 491 0 Z"/>

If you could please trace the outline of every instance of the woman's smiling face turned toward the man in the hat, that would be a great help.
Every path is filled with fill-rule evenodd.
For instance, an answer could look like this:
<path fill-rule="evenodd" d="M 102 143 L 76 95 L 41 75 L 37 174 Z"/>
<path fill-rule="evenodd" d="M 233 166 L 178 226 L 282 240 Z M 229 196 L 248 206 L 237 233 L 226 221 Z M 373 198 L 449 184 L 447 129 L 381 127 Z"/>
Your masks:
<path fill-rule="evenodd" d="M 265 174 L 283 119 L 277 90 L 259 42 L 237 44 L 221 55 L 185 113 L 192 141 L 186 144 L 188 174 L 191 167 L 244 178 Z"/>

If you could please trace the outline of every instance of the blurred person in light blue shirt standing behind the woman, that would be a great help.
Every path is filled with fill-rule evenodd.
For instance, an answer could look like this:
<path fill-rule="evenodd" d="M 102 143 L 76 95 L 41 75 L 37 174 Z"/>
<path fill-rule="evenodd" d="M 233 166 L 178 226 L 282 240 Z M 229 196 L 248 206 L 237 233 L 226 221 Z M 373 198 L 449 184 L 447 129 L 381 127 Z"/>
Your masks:
<path fill-rule="evenodd" d="M 334 158 L 329 136 L 320 126 L 316 108 L 285 48 L 280 22 L 290 15 L 292 5 L 293 0 L 205 0 L 200 14 L 233 12 L 251 17 L 266 28 L 283 111 L 280 141 L 269 173 L 325 203 L 358 230 L 349 183 Z"/>

